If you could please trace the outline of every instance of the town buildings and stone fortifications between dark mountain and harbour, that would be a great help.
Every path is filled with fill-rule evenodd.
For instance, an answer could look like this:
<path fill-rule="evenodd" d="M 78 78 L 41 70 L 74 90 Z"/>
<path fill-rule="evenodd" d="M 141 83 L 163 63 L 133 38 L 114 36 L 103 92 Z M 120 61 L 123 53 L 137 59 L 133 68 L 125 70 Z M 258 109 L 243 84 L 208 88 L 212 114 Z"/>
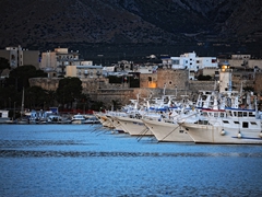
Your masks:
<path fill-rule="evenodd" d="M 254 84 L 255 74 L 262 69 L 261 59 L 252 59 L 250 55 L 231 55 L 231 58 L 199 57 L 196 53 L 182 54 L 179 57 L 162 58 L 160 63 L 134 63 L 133 61 L 121 60 L 111 66 L 94 65 L 92 60 L 80 58 L 80 53 L 68 48 L 55 48 L 53 51 L 39 53 L 38 50 L 24 49 L 21 46 L 7 47 L 0 50 L 0 57 L 7 58 L 11 68 L 24 65 L 33 65 L 48 73 L 47 79 L 32 80 L 33 85 L 40 85 L 44 89 L 56 90 L 60 77 L 76 77 L 81 79 L 83 91 L 91 95 L 103 95 L 103 91 L 111 89 L 128 89 L 128 77 L 140 78 L 141 89 L 163 89 L 174 91 L 195 91 L 203 82 L 198 81 L 199 76 L 210 76 L 214 80 L 219 80 L 219 69 L 222 65 L 230 66 L 238 86 L 245 80 L 246 85 Z M 151 58 L 156 58 L 151 55 Z M 162 71 L 160 71 L 162 70 Z M 5 70 L 1 79 L 8 77 Z M 122 84 L 110 84 L 108 76 L 122 79 Z M 233 79 L 233 81 L 234 81 Z M 47 83 L 48 81 L 48 83 Z M 53 84 L 55 83 L 55 84 Z M 49 85 L 52 84 L 52 85 Z M 212 85 L 206 85 L 211 89 Z M 205 86 L 205 88 L 206 88 Z M 258 90 L 262 91 L 262 90 Z M 107 92 L 105 95 L 116 94 Z"/>

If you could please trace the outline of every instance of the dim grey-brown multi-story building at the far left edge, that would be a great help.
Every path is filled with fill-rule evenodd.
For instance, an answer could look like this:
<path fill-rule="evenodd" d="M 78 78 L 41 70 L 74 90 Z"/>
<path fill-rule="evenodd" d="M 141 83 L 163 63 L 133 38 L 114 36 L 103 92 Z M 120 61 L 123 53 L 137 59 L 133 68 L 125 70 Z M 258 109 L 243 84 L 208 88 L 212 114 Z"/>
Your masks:
<path fill-rule="evenodd" d="M 20 45 L 17 47 L 5 47 L 5 49 L 0 50 L 0 57 L 9 60 L 11 69 L 32 65 L 39 68 L 39 50 L 28 50 L 22 48 Z M 2 76 L 8 76 L 9 71 L 4 71 Z"/>

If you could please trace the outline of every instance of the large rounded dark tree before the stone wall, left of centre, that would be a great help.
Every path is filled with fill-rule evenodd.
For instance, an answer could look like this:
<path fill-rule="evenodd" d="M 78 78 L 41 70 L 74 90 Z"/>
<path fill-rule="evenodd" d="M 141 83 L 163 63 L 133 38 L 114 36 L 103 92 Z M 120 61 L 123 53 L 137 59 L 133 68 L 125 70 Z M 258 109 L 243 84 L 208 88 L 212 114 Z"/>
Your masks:
<path fill-rule="evenodd" d="M 82 96 L 82 81 L 79 78 L 64 78 L 59 81 L 56 91 L 58 102 L 62 105 L 70 104 Z"/>

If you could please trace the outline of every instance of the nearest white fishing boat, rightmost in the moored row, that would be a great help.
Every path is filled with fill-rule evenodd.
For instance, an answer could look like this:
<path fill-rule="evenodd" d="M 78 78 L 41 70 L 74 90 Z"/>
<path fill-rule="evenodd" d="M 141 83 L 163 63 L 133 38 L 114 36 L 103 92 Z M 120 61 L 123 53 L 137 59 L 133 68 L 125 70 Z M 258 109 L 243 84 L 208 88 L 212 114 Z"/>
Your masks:
<path fill-rule="evenodd" d="M 196 143 L 262 143 L 261 119 L 254 109 L 205 109 L 206 117 L 182 123 Z"/>

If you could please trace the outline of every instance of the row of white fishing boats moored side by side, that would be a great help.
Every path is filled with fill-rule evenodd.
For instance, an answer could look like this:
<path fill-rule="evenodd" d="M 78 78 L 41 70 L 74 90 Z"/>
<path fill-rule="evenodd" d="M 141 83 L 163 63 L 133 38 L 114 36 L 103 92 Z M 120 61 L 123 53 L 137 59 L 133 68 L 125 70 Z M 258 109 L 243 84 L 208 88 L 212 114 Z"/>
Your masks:
<path fill-rule="evenodd" d="M 234 91 L 200 91 L 195 103 L 186 96 L 139 104 L 121 112 L 95 113 L 103 126 L 158 141 L 261 144 L 262 121 L 257 97 Z"/>

